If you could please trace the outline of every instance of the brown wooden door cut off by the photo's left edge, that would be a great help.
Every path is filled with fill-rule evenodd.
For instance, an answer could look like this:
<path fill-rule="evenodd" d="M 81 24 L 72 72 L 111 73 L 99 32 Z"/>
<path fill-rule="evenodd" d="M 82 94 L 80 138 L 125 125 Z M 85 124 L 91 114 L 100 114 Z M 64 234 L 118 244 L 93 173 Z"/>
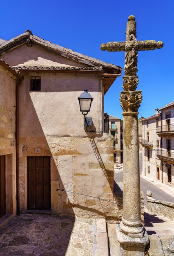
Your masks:
<path fill-rule="evenodd" d="M 6 213 L 5 195 L 5 155 L 0 156 L 0 217 Z"/>

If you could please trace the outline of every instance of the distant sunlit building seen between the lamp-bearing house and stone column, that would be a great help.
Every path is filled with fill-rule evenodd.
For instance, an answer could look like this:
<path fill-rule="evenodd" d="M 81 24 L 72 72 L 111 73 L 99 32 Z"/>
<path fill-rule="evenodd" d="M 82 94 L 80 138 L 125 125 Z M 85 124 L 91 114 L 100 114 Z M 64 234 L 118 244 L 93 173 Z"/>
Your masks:
<path fill-rule="evenodd" d="M 114 139 L 114 163 L 123 163 L 123 121 L 118 117 L 109 115 L 109 133 Z"/>

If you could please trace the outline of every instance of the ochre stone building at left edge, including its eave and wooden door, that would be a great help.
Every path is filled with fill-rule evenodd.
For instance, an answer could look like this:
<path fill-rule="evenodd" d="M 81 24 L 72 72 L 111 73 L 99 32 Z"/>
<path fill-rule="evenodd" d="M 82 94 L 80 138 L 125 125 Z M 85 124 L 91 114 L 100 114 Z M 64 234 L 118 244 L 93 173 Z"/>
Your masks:
<path fill-rule="evenodd" d="M 4 223 L 16 215 L 16 85 L 22 79 L 0 60 L 0 220 Z"/>

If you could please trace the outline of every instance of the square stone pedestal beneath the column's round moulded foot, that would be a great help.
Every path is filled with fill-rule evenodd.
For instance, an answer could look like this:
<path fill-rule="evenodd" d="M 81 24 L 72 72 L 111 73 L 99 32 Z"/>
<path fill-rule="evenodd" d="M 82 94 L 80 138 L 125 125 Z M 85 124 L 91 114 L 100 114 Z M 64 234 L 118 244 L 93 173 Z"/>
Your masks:
<path fill-rule="evenodd" d="M 145 246 L 149 242 L 147 232 L 144 230 L 142 238 L 129 237 L 120 231 L 120 225 L 116 227 L 116 235 L 120 243 L 119 256 L 145 256 Z"/>

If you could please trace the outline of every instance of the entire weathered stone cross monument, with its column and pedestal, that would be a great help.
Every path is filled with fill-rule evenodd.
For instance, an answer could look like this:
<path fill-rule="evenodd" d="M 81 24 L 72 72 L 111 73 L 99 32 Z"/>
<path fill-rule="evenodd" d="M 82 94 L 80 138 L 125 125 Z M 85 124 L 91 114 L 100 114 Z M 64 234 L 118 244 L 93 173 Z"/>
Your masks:
<path fill-rule="evenodd" d="M 129 16 L 126 42 L 110 42 L 101 45 L 108 52 L 125 51 L 125 76 L 120 103 L 123 108 L 123 217 L 117 226 L 121 256 L 144 256 L 148 243 L 147 232 L 141 224 L 140 171 L 138 146 L 138 108 L 142 101 L 141 90 L 136 90 L 138 51 L 163 47 L 163 42 L 136 39 L 136 22 Z"/>

